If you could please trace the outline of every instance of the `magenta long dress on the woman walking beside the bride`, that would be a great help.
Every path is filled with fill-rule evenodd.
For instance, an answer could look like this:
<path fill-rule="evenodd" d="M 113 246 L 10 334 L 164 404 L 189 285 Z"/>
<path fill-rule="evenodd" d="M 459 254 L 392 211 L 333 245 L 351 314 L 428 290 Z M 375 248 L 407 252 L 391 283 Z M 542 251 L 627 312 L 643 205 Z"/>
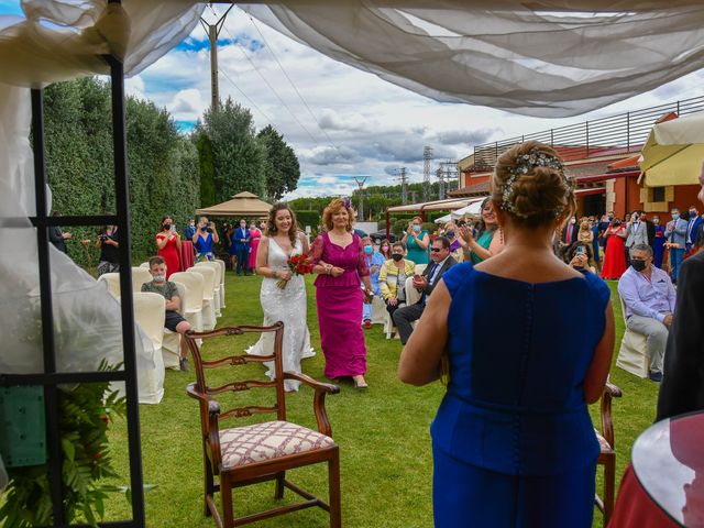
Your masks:
<path fill-rule="evenodd" d="M 333 244 L 328 233 L 316 238 L 310 250 L 314 264 L 319 261 L 344 268 L 339 277 L 318 275 L 316 305 L 320 326 L 320 345 L 326 356 L 326 377 L 356 376 L 366 373 L 366 345 L 362 320 L 361 277 L 370 275 L 362 239 L 352 234 L 346 248 Z"/>

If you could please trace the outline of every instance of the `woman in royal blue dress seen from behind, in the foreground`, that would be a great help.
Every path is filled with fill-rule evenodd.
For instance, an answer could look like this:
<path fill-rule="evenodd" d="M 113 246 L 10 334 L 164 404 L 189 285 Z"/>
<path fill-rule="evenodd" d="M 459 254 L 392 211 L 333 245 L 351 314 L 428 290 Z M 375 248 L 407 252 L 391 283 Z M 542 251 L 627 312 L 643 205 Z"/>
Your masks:
<path fill-rule="evenodd" d="M 406 383 L 449 365 L 430 429 L 436 527 L 592 526 L 600 448 L 587 404 L 604 389 L 614 318 L 606 284 L 552 252 L 573 188 L 552 148 L 504 153 L 492 179 L 504 250 L 442 276 L 402 353 Z"/>

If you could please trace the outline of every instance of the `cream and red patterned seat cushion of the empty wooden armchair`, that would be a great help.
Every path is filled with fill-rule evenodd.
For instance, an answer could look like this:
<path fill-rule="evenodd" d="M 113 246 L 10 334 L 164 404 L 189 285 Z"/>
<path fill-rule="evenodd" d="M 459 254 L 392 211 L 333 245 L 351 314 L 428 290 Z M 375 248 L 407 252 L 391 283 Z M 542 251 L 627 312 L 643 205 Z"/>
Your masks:
<path fill-rule="evenodd" d="M 288 421 L 266 421 L 220 431 L 223 469 L 333 446 L 334 441 L 330 437 Z"/>

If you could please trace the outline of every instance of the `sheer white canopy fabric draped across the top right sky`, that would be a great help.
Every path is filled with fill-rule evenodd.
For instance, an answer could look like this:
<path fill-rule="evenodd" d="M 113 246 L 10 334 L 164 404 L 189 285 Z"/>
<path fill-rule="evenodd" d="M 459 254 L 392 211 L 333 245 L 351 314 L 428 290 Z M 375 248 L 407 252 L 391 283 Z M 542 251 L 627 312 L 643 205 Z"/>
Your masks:
<path fill-rule="evenodd" d="M 576 116 L 704 67 L 700 0 L 274 0 L 243 9 L 418 94 Z"/>

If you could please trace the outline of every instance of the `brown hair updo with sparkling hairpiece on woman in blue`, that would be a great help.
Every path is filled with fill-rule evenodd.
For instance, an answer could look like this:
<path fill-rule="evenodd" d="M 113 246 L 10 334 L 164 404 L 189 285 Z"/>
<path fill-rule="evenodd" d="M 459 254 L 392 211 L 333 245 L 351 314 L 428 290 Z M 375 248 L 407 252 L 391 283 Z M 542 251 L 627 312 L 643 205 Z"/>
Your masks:
<path fill-rule="evenodd" d="M 538 141 L 520 143 L 498 157 L 491 189 L 498 208 L 529 227 L 576 210 L 574 184 L 564 174 L 562 158 Z"/>

